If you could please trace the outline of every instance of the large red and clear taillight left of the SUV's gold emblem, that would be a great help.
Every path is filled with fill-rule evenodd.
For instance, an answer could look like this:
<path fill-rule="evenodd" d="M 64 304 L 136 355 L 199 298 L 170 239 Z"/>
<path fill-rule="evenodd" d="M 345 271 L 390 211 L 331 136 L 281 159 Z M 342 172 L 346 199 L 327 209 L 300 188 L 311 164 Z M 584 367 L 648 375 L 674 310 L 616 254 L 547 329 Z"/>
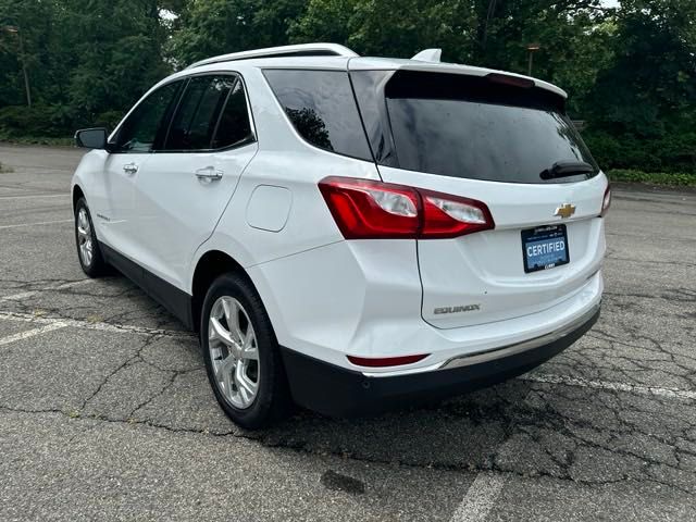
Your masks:
<path fill-rule="evenodd" d="M 495 227 L 488 207 L 474 199 L 351 177 L 326 177 L 319 188 L 346 239 L 433 239 Z"/>

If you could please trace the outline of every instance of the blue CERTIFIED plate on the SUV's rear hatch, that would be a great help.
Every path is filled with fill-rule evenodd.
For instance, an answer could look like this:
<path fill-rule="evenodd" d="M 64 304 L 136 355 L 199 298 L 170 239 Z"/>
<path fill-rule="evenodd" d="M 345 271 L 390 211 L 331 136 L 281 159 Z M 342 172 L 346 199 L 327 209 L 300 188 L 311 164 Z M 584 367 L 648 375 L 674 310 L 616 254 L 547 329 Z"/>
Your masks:
<path fill-rule="evenodd" d="M 538 226 L 522 231 L 524 272 L 552 269 L 570 262 L 566 225 Z"/>

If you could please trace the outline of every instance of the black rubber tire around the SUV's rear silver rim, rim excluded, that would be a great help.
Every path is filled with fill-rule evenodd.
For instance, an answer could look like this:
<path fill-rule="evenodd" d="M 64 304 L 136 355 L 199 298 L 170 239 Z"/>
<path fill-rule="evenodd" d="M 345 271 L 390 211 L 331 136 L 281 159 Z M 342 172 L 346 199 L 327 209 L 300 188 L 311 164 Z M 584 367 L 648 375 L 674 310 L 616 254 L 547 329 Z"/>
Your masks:
<path fill-rule="evenodd" d="M 259 358 L 258 390 L 251 406 L 244 409 L 235 407 L 225 397 L 213 368 L 209 344 L 209 321 L 213 306 L 221 297 L 236 299 L 244 307 L 256 334 Z M 200 346 L 208 380 L 215 398 L 227 417 L 236 424 L 248 430 L 257 430 L 288 414 L 291 409 L 291 399 L 281 350 L 261 297 L 246 277 L 234 273 L 225 274 L 217 277 L 210 286 L 201 313 Z"/>

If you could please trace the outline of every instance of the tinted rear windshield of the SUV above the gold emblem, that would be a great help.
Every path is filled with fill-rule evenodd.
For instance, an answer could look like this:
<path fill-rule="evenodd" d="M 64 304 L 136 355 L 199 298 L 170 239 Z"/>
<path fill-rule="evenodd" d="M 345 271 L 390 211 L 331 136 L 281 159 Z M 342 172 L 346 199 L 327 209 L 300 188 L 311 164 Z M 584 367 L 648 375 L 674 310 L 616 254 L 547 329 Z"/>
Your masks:
<path fill-rule="evenodd" d="M 385 164 L 510 183 L 576 182 L 598 172 L 562 99 L 549 91 L 401 71 L 386 83 L 384 98 L 395 157 Z M 585 164 L 592 172 L 542 177 L 558 163 Z"/>

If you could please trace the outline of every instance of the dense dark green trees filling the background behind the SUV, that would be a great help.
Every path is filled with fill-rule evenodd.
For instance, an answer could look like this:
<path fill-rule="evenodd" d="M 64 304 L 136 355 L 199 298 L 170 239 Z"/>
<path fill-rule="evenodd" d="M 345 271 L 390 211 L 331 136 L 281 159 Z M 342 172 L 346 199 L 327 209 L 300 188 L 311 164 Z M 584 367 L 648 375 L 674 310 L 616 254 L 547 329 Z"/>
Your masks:
<path fill-rule="evenodd" d="M 526 73 L 570 94 L 600 164 L 696 172 L 696 1 L 0 0 L 0 139 L 112 126 L 158 78 L 303 41 Z M 14 28 L 18 30 L 14 30 Z M 23 65 L 33 107 L 26 107 Z"/>

